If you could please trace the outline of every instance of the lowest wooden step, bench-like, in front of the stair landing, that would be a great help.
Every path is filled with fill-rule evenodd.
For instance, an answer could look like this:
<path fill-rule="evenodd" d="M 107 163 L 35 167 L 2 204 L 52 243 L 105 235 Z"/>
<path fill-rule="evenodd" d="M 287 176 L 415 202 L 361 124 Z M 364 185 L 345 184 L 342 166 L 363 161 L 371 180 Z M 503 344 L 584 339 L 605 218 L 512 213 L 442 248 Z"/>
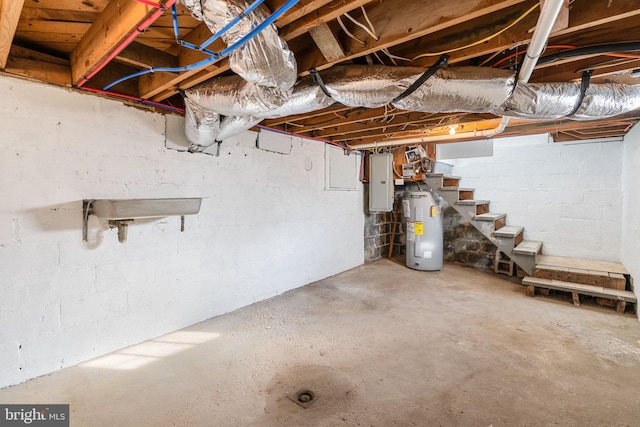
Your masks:
<path fill-rule="evenodd" d="M 606 298 L 617 302 L 616 311 L 624 313 L 627 303 L 636 304 L 638 302 L 635 294 L 631 291 L 609 289 L 602 286 L 585 285 L 582 283 L 565 282 L 563 280 L 544 279 L 540 277 L 525 277 L 522 284 L 527 286 L 527 295 L 535 296 L 536 288 L 554 289 L 563 292 L 571 292 L 573 304 L 580 305 L 579 295 L 589 295 L 596 298 Z"/>

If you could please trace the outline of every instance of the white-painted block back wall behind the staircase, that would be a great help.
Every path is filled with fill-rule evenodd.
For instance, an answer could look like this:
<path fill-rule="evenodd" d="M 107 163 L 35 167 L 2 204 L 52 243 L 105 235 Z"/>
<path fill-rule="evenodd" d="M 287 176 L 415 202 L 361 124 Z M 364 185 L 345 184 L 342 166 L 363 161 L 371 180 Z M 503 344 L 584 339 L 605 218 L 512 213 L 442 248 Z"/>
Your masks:
<path fill-rule="evenodd" d="M 547 135 L 494 140 L 492 157 L 457 159 L 453 174 L 543 253 L 620 261 L 622 142 L 553 143 Z"/>

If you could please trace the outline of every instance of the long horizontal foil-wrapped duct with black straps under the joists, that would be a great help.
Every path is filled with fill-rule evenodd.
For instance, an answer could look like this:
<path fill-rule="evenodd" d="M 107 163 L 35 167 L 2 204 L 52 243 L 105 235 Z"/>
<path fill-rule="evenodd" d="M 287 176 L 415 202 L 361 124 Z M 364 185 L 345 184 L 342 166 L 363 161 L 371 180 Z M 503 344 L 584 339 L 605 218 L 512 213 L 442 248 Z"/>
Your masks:
<path fill-rule="evenodd" d="M 292 93 L 245 82 L 237 76 L 221 77 L 185 92 L 200 108 L 236 116 L 238 132 L 258 119 L 278 118 L 316 111 L 340 102 L 349 107 L 375 108 L 392 104 L 428 113 L 493 113 L 532 120 L 567 116 L 580 101 L 580 83 L 515 84 L 503 70 L 455 67 L 439 70 L 412 94 L 392 102 L 424 72 L 415 67 L 336 66 L 321 73 L 327 92 L 305 77 Z M 515 87 L 514 87 L 515 86 Z M 612 117 L 640 108 L 640 86 L 592 84 L 571 119 Z M 241 126 L 244 117 L 245 127 Z M 225 137 L 231 132 L 225 133 Z M 222 140 L 221 135 L 217 135 Z M 192 141 L 194 144 L 196 142 Z M 211 141 L 213 143 L 213 140 Z"/>

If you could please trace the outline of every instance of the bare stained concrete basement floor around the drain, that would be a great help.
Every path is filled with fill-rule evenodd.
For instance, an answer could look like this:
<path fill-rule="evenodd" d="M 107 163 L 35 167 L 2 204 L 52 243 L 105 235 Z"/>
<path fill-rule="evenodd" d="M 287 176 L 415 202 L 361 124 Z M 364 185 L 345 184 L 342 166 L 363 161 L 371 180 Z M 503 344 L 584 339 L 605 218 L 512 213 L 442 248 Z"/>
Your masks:
<path fill-rule="evenodd" d="M 310 389 L 304 409 L 287 398 Z M 634 315 L 378 261 L 0 390 L 73 426 L 638 426 Z"/>

